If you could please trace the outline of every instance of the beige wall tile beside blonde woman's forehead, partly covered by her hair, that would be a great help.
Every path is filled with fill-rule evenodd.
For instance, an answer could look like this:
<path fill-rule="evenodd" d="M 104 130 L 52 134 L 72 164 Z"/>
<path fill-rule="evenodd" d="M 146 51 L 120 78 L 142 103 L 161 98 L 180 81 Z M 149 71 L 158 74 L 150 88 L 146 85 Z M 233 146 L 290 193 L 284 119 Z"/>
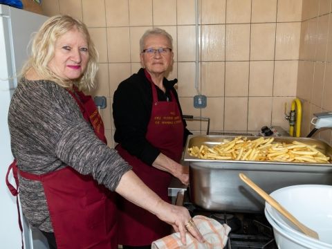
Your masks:
<path fill-rule="evenodd" d="M 107 34 L 106 28 L 89 28 L 91 39 L 99 53 L 99 62 L 107 63 Z"/>

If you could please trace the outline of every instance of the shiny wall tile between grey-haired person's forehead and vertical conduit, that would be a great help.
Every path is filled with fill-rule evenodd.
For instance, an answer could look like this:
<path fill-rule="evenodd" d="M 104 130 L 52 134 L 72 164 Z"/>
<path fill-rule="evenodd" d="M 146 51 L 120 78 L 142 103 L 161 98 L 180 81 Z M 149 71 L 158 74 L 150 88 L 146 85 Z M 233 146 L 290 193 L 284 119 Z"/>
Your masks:
<path fill-rule="evenodd" d="M 178 26 L 178 61 L 194 62 L 196 60 L 195 26 Z"/>

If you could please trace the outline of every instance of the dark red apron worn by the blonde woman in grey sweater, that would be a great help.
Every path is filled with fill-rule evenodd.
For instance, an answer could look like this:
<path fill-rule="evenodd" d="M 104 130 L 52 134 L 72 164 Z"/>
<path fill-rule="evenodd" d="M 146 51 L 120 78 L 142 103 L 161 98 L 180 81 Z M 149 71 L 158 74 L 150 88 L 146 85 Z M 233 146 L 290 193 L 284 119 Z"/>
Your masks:
<path fill-rule="evenodd" d="M 68 92 L 95 134 L 106 143 L 104 124 L 91 96 L 75 90 L 77 98 Z M 42 175 L 18 172 L 21 177 L 42 182 L 58 249 L 118 247 L 114 193 L 98 185 L 92 176 L 68 166 Z"/>

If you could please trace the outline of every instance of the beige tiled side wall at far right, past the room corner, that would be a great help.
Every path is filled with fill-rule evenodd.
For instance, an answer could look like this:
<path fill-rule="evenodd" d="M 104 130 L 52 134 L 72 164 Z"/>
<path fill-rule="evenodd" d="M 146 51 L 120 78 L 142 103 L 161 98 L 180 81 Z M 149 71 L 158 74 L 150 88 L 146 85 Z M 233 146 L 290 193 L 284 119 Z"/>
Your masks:
<path fill-rule="evenodd" d="M 302 135 L 311 129 L 313 113 L 332 111 L 331 0 L 303 0 L 297 96 L 303 103 Z M 331 144 L 331 129 L 316 132 Z"/>

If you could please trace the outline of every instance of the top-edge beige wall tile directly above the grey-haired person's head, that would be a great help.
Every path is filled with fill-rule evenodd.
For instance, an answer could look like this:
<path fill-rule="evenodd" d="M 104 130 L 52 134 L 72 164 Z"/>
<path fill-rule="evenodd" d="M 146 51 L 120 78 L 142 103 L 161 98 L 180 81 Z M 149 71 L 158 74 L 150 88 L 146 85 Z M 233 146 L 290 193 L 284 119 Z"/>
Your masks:
<path fill-rule="evenodd" d="M 176 0 L 153 0 L 154 26 L 176 25 Z"/>

